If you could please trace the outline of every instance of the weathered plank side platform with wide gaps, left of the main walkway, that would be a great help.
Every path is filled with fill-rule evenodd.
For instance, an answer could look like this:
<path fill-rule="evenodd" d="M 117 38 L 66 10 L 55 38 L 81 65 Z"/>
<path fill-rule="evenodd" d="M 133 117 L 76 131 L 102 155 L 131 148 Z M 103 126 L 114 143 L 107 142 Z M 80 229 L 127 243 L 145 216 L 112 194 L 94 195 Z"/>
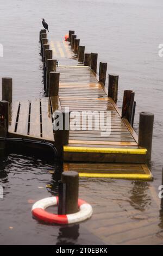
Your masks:
<path fill-rule="evenodd" d="M 57 96 L 12 103 L 9 136 L 54 142 L 52 113 L 56 109 L 60 109 Z"/>

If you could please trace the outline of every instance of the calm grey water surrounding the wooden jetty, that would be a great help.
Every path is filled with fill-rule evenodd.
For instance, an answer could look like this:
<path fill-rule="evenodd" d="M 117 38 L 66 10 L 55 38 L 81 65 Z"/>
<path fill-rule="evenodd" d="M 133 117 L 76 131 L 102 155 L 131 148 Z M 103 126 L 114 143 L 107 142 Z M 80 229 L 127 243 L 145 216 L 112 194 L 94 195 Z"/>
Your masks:
<path fill-rule="evenodd" d="M 158 55 L 158 45 L 163 43 L 163 2 L 0 0 L 0 8 L 0 44 L 4 47 L 4 57 L 0 57 L 0 76 L 13 78 L 14 100 L 31 99 L 43 94 L 38 39 L 41 19 L 45 18 L 49 24 L 50 40 L 61 41 L 69 29 L 74 29 L 81 40 L 80 44 L 85 45 L 86 52 L 97 52 L 98 62 L 108 62 L 108 71 L 120 76 L 118 106 L 122 106 L 124 89 L 135 91 L 136 131 L 139 112 L 149 111 L 155 114 L 152 157 L 154 182 L 81 179 L 80 197 L 93 205 L 95 217 L 68 229 L 69 231 L 39 224 L 30 215 L 32 204 L 28 203 L 29 199 L 38 200 L 57 193 L 57 185 L 50 190 L 46 188 L 46 184 L 53 182 L 48 169 L 55 169 L 54 164 L 14 154 L 4 159 L 0 174 L 0 184 L 3 183 L 4 186 L 4 199 L 0 199 L 0 243 L 98 244 L 98 239 L 103 242 L 125 243 L 127 238 L 120 235 L 124 228 L 123 223 L 126 221 L 134 225 L 133 215 L 128 212 L 134 212 L 135 216 L 135 211 L 141 220 L 145 218 L 147 222 L 147 233 L 152 236 L 147 242 L 152 243 L 159 237 L 161 243 L 162 221 L 160 222 L 156 193 L 161 184 L 163 149 L 163 58 Z M 59 58 L 60 64 L 65 61 L 77 64 L 74 60 Z M 152 194 L 154 192 L 155 196 Z M 106 205 L 108 208 L 105 212 L 103 209 Z M 108 233 L 103 236 L 105 230 L 100 227 L 104 223 L 96 220 L 96 214 L 105 212 L 105 218 L 108 219 L 110 209 L 115 212 L 126 211 L 127 214 L 122 219 L 120 230 L 117 230 L 118 221 L 115 221 L 115 226 L 108 228 Z M 150 224 L 153 209 L 158 216 L 155 224 Z M 95 222 L 99 227 L 94 227 Z M 113 235 L 116 232 L 120 234 Z M 76 235 L 67 238 L 70 233 Z"/>

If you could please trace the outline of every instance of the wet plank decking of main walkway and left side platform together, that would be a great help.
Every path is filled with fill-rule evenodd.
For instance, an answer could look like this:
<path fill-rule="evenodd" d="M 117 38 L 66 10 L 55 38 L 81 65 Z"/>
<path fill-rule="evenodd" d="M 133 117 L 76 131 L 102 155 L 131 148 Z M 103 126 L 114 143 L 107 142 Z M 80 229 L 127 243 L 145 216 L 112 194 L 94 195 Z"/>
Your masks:
<path fill-rule="evenodd" d="M 136 133 L 128 121 L 121 118 L 120 110 L 106 95 L 105 87 L 98 82 L 96 74 L 87 66 L 59 66 L 57 71 L 60 72 L 59 96 L 12 104 L 9 136 L 43 139 L 55 143 L 52 127 L 55 109 L 69 107 L 70 111 L 79 113 L 105 111 L 104 122 L 106 113 L 110 112 L 111 134 L 108 137 L 102 137 L 100 129 L 94 130 L 94 120 L 93 130 L 89 130 L 88 125 L 86 125 L 86 130 L 82 130 L 82 122 L 76 125 L 79 130 L 74 130 L 74 117 L 71 113 L 70 139 L 68 145 L 64 147 L 64 160 L 98 162 L 99 170 L 102 162 L 140 163 L 137 168 L 141 174 L 148 175 L 151 179 L 151 173 L 145 173 L 142 167 L 142 164 L 146 162 L 147 150 L 139 147 Z M 126 174 L 124 169 L 128 168 L 123 167 L 123 174 Z M 106 169 L 108 173 L 112 171 L 117 173 L 115 167 L 108 166 Z M 129 169 L 132 174 L 132 168 Z M 133 170 L 135 170 L 134 166 Z"/>

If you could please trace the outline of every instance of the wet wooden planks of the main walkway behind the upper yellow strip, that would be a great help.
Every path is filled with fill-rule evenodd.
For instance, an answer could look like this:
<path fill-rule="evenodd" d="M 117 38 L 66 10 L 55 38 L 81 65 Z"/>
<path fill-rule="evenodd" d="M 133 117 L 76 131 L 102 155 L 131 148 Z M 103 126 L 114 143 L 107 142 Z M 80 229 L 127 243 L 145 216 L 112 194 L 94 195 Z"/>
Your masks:
<path fill-rule="evenodd" d="M 78 111 L 80 116 L 83 112 L 87 112 L 89 118 L 90 112 L 103 111 L 105 119 L 102 125 L 106 123 L 106 113 L 111 113 L 111 133 L 108 137 L 101 136 L 101 130 L 95 131 L 95 121 L 92 117 L 93 131 L 89 131 L 89 126 L 86 125 L 86 131 L 83 130 L 83 118 L 76 118 L 76 130 L 73 131 L 74 117 L 71 114 L 70 125 L 70 145 L 82 144 L 112 146 L 137 146 L 134 136 L 129 131 L 127 125 L 121 119 L 120 113 L 115 108 L 114 103 L 106 96 L 101 84 L 97 81 L 95 74 L 90 68 L 85 66 L 59 66 L 60 85 L 59 97 L 61 107 L 69 107 L 70 111 Z"/>

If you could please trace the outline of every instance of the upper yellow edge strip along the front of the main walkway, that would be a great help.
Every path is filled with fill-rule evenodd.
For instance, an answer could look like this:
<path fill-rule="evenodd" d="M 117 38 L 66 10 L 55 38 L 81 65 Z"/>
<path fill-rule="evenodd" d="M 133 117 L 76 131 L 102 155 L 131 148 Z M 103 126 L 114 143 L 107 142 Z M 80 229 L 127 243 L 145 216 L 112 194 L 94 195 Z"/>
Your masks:
<path fill-rule="evenodd" d="M 80 153 L 112 153 L 112 154 L 139 154 L 139 155 L 147 154 L 147 149 L 87 148 L 87 147 L 68 147 L 68 146 L 64 146 L 64 151 L 80 152 Z"/>

